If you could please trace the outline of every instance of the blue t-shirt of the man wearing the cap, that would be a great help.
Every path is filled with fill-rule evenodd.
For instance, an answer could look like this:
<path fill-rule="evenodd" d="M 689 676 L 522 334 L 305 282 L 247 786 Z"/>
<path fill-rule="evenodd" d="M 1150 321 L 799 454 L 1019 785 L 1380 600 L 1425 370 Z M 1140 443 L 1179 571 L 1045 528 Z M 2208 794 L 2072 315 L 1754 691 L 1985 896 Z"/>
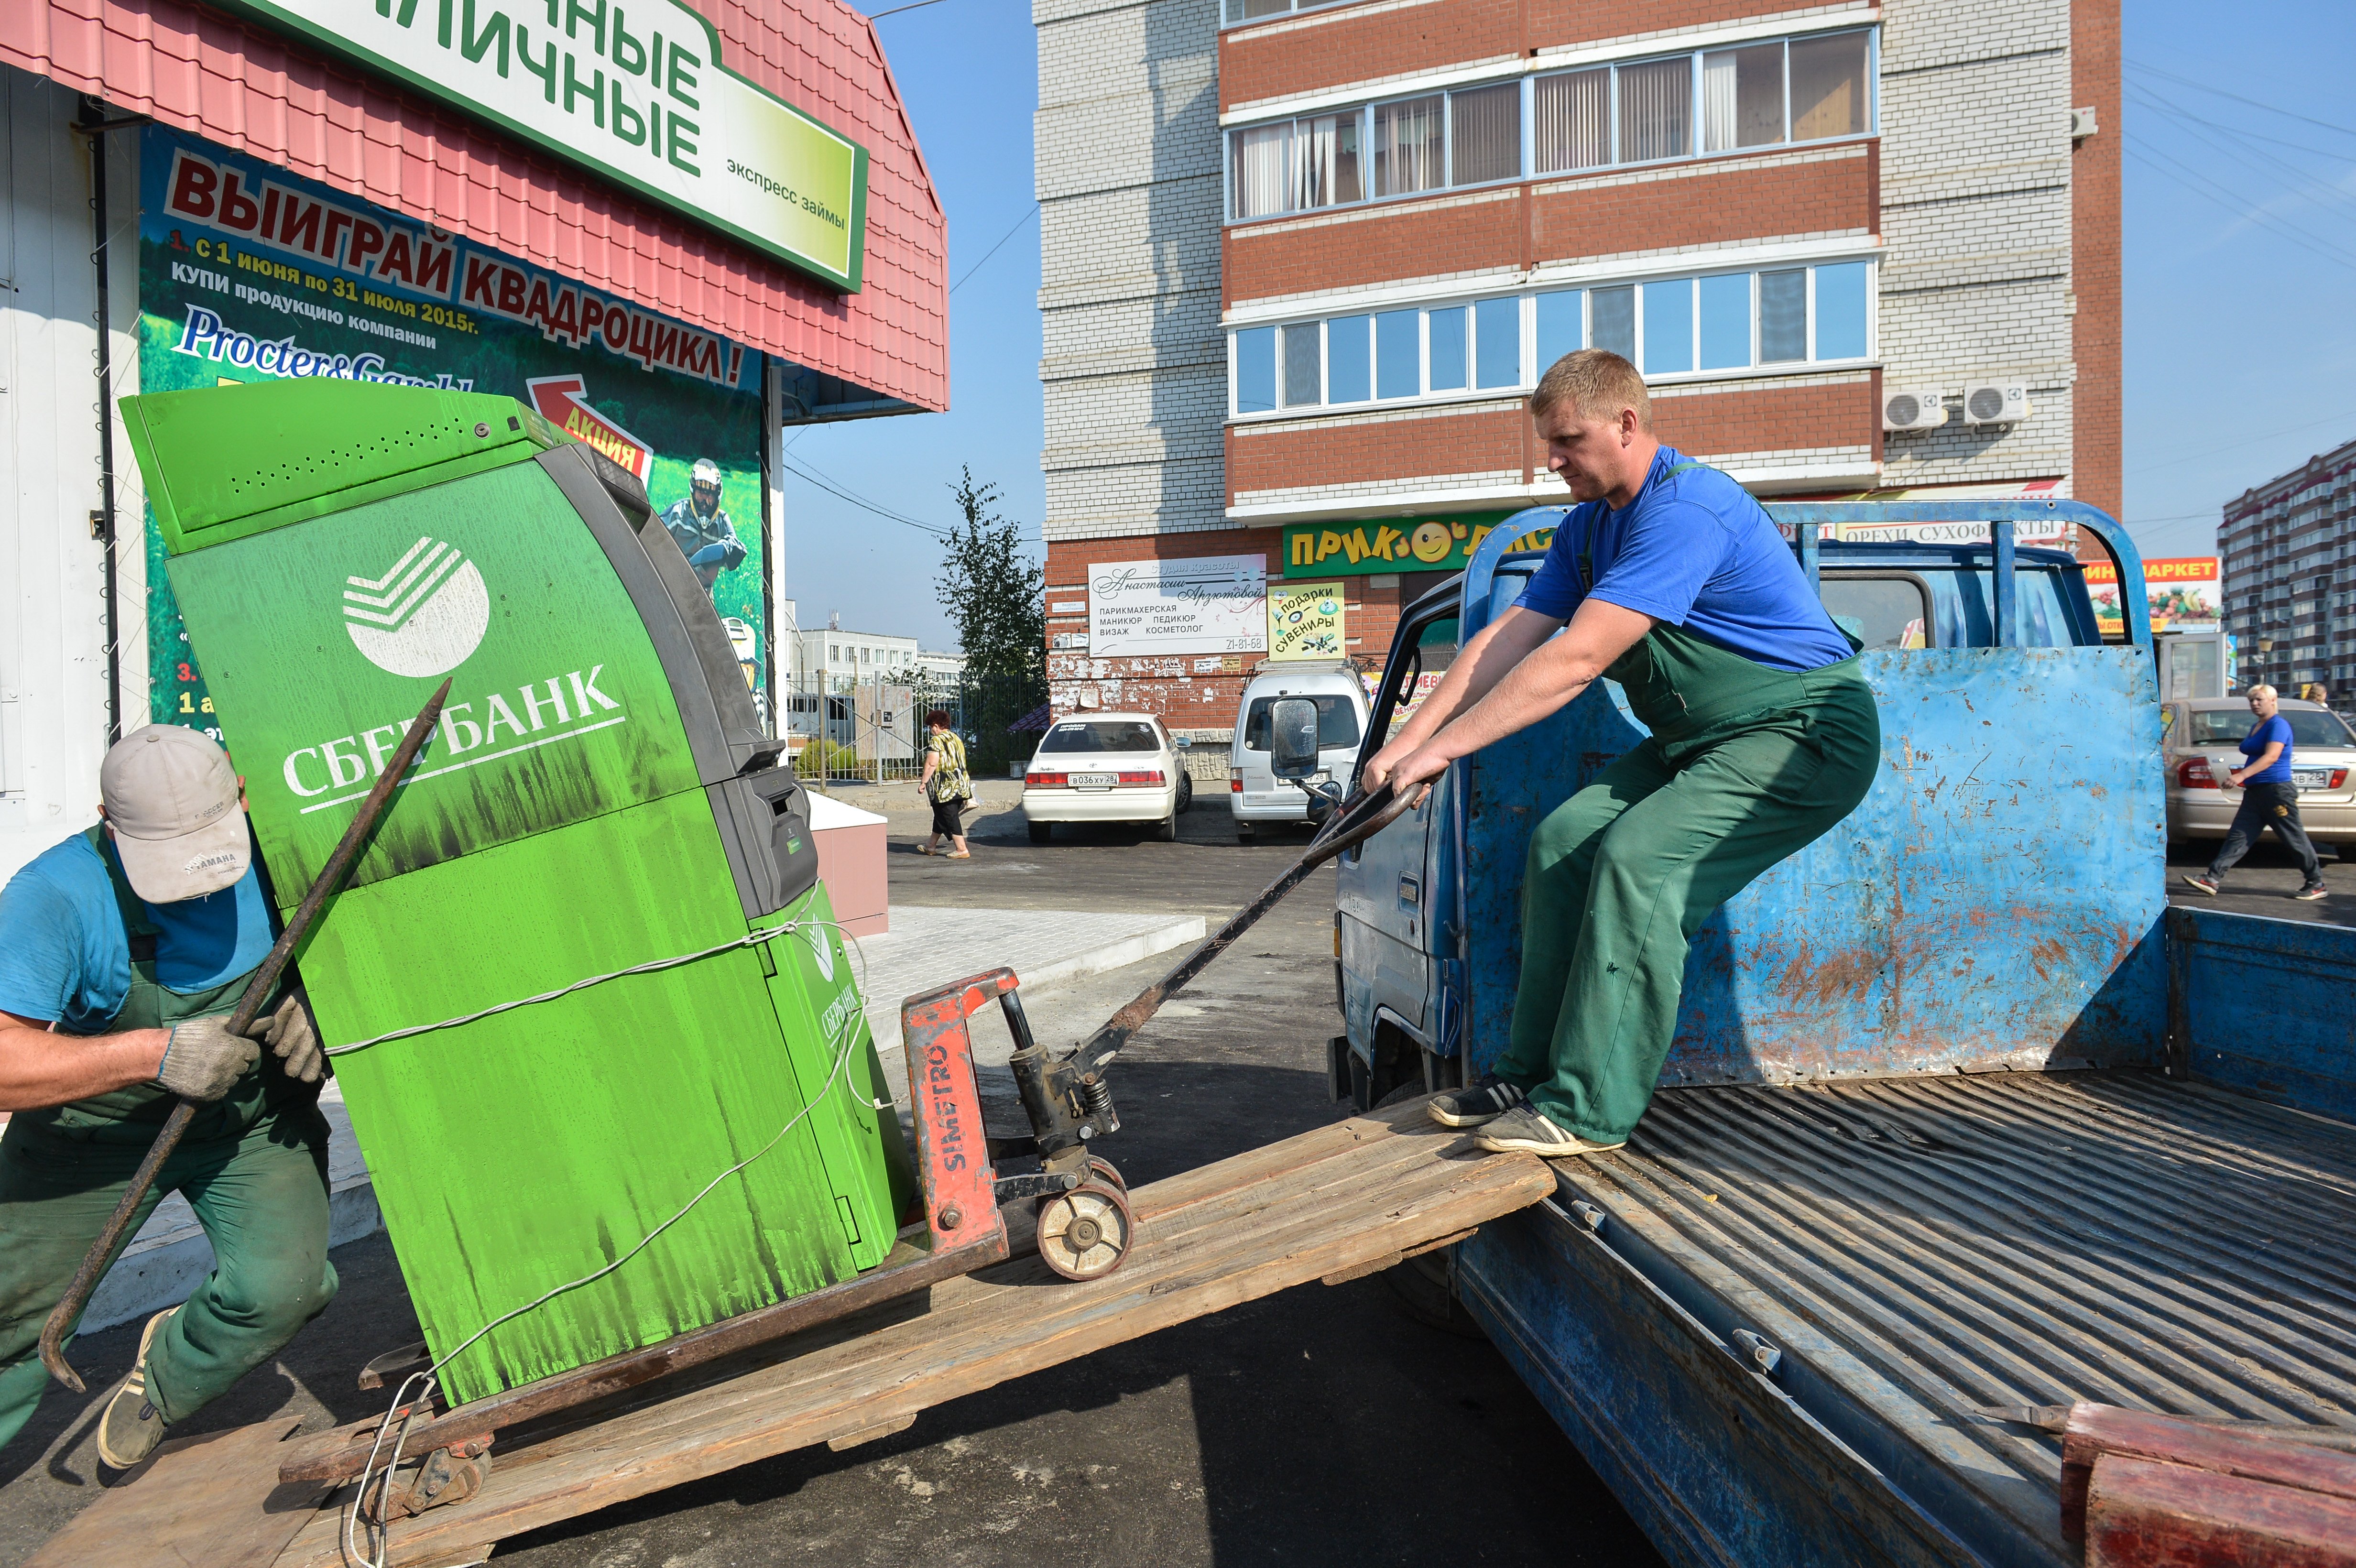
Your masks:
<path fill-rule="evenodd" d="M 259 857 L 233 888 L 146 904 L 146 916 L 158 932 L 155 979 L 181 996 L 252 970 L 276 942 Z M 99 850 L 75 833 L 0 888 L 0 1012 L 99 1034 L 130 989 L 115 888 Z"/>

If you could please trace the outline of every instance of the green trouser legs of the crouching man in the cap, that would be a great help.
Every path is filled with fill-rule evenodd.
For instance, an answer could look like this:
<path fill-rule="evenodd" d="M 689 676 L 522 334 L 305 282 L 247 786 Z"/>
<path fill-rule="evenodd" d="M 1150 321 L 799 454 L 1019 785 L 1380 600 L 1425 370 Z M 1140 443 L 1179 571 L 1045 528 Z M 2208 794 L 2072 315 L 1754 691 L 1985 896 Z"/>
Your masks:
<path fill-rule="evenodd" d="M 0 1446 L 40 1403 L 40 1328 L 66 1295 L 158 1123 L 57 1128 L 28 1116 L 0 1135 Z M 186 1420 L 262 1366 L 335 1300 L 327 1262 L 327 1118 L 309 1097 L 243 1132 L 186 1137 L 132 1222 L 179 1191 L 212 1241 L 212 1274 L 148 1349 L 148 1398 Z"/>

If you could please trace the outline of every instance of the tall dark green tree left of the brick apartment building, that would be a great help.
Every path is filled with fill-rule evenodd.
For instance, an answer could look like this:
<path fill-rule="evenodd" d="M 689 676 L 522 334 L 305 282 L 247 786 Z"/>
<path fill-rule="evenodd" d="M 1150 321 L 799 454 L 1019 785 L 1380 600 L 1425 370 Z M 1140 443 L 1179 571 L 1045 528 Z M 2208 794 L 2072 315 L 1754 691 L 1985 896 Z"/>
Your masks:
<path fill-rule="evenodd" d="M 959 473 L 949 492 L 964 520 L 949 527 L 933 582 L 966 655 L 959 706 L 973 765 L 997 772 L 1030 756 L 1030 739 L 1008 725 L 1046 702 L 1046 574 L 1020 525 L 997 513 L 999 487 Z"/>

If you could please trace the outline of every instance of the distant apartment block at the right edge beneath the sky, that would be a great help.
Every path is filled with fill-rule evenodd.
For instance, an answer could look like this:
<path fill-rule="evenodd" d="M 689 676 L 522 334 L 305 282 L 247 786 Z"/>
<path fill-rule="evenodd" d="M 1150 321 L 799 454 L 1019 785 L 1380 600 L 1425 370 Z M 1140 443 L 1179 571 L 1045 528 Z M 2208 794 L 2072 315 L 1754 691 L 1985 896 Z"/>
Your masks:
<path fill-rule="evenodd" d="M 2224 629 L 2243 687 L 2356 690 L 2356 440 L 2226 501 Z"/>

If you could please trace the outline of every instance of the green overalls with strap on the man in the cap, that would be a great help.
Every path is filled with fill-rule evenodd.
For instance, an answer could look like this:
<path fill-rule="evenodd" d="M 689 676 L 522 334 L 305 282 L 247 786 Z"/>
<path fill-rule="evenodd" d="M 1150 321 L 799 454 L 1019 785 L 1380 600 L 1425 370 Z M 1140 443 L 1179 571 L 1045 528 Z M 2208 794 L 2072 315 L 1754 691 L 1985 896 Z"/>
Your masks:
<path fill-rule="evenodd" d="M 99 1034 L 167 1029 L 233 1012 L 252 975 L 179 994 L 155 979 L 155 923 L 104 838 L 92 845 L 115 885 L 132 984 Z M 276 1003 L 276 996 L 271 998 Z M 16 1111 L 0 1132 L 0 1446 L 33 1417 L 49 1382 L 40 1328 L 155 1142 L 172 1095 L 153 1083 Z M 214 1269 L 148 1351 L 148 1396 L 186 1420 L 269 1361 L 335 1297 L 327 1262 L 327 1121 L 318 1085 L 278 1071 L 266 1050 L 221 1099 L 198 1107 L 130 1234 L 172 1191 L 212 1241 Z"/>

